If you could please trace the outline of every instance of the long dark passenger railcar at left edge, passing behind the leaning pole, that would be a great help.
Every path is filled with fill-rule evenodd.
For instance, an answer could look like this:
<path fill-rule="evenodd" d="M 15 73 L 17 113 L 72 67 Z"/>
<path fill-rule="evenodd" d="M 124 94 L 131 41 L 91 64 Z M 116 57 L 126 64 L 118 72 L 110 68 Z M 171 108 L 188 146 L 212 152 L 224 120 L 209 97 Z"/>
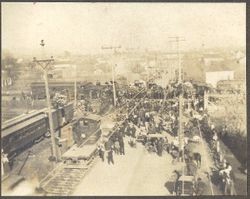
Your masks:
<path fill-rule="evenodd" d="M 58 130 L 65 123 L 73 119 L 73 103 L 63 108 L 53 109 L 52 118 L 54 130 Z M 42 109 L 19 116 L 3 123 L 1 128 L 1 142 L 4 153 L 12 159 L 24 148 L 31 146 L 37 140 L 46 136 L 49 131 L 48 111 Z"/>

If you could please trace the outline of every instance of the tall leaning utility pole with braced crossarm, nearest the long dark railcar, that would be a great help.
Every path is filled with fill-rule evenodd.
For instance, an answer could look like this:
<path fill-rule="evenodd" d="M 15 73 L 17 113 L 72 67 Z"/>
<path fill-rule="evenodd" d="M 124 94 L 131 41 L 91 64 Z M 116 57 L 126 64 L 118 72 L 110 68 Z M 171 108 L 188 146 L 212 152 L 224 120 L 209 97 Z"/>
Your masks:
<path fill-rule="evenodd" d="M 40 45 L 42 47 L 42 51 L 44 51 L 45 44 L 43 40 L 41 40 Z M 53 59 L 53 56 L 51 56 L 50 59 L 40 59 L 40 60 L 34 57 L 33 62 L 39 65 L 44 72 L 45 91 L 46 91 L 46 99 L 47 99 L 47 106 L 48 106 L 48 112 L 49 112 L 49 127 L 50 127 L 50 134 L 51 134 L 51 143 L 52 143 L 52 156 L 56 158 L 56 161 L 58 161 L 58 154 L 57 154 L 56 141 L 55 141 L 55 132 L 54 132 L 53 119 L 52 119 L 52 112 L 51 112 L 48 72 L 47 72 L 49 65 L 52 62 L 54 62 L 54 59 Z"/>

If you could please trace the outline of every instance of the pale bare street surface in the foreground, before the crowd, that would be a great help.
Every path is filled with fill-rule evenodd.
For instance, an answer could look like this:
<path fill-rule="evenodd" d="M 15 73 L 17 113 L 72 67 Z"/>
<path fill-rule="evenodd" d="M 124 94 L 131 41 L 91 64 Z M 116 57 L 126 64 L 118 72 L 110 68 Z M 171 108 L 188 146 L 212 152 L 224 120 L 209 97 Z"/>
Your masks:
<path fill-rule="evenodd" d="M 167 153 L 162 157 L 148 153 L 141 144 L 136 148 L 126 144 L 125 151 L 124 156 L 115 155 L 114 165 L 99 160 L 78 185 L 73 196 L 91 196 L 93 193 L 105 196 L 172 195 L 168 182 L 171 182 L 175 170 L 182 170 L 182 164 L 172 164 L 172 157 Z M 203 170 L 207 163 L 202 161 Z M 207 189 L 206 195 L 210 195 L 211 190 L 209 187 Z M 213 189 L 221 195 L 215 186 Z"/>

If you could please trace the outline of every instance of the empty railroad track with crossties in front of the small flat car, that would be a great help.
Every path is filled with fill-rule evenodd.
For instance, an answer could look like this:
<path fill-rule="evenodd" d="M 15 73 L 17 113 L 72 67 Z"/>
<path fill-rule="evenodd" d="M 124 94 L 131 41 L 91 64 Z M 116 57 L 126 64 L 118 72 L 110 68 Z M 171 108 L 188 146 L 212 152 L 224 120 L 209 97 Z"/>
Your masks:
<path fill-rule="evenodd" d="M 46 196 L 69 196 L 98 160 L 95 155 L 85 163 L 61 163 L 40 182 L 40 188 Z"/>

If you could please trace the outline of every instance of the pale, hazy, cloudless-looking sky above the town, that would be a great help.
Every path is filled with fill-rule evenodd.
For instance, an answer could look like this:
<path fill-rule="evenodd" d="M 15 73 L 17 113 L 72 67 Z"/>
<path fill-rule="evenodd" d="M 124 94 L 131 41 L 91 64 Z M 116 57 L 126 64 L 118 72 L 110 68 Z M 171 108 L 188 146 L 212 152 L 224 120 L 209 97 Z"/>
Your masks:
<path fill-rule="evenodd" d="M 2 48 L 33 53 L 101 51 L 102 45 L 166 49 L 245 46 L 245 3 L 2 3 Z"/>

